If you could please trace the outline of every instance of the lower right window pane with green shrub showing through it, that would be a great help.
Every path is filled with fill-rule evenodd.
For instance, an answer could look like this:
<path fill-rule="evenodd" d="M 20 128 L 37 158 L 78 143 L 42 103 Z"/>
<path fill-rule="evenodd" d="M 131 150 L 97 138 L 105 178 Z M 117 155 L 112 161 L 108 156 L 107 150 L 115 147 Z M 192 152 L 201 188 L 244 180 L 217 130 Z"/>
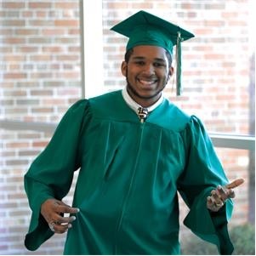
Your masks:
<path fill-rule="evenodd" d="M 244 184 L 236 188 L 234 210 L 230 219 L 230 237 L 235 247 L 234 254 L 254 255 L 255 251 L 255 154 L 254 151 L 233 150 L 225 148 L 216 149 L 220 161 L 223 163 L 227 178 L 243 178 Z M 180 241 L 182 253 L 195 255 L 219 254 L 216 247 L 196 238 L 183 224 L 188 209 L 182 199 L 180 208 Z"/>

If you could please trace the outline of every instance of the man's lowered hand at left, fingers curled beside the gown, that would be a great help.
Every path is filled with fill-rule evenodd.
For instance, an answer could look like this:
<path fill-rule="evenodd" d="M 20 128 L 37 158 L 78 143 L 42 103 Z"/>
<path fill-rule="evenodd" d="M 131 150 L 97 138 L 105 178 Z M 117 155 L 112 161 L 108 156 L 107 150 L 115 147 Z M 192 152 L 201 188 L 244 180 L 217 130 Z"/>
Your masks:
<path fill-rule="evenodd" d="M 65 233 L 71 228 L 71 223 L 76 219 L 75 216 L 63 217 L 64 213 L 78 213 L 78 208 L 71 208 L 64 202 L 56 199 L 48 199 L 41 206 L 41 214 L 48 222 L 50 230 L 54 233 Z"/>

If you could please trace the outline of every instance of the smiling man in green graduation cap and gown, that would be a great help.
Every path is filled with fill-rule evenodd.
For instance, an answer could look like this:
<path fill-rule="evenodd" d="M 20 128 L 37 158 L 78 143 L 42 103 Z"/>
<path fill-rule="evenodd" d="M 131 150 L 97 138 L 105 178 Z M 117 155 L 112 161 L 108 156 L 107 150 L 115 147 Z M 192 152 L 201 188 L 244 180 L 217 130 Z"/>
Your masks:
<path fill-rule="evenodd" d="M 72 105 L 31 164 L 26 247 L 68 230 L 65 254 L 179 254 L 179 191 L 185 225 L 231 253 L 230 198 L 242 179 L 228 185 L 202 122 L 162 96 L 174 45 L 193 35 L 144 11 L 112 30 L 129 37 L 127 87 Z M 70 207 L 61 200 L 78 168 Z"/>

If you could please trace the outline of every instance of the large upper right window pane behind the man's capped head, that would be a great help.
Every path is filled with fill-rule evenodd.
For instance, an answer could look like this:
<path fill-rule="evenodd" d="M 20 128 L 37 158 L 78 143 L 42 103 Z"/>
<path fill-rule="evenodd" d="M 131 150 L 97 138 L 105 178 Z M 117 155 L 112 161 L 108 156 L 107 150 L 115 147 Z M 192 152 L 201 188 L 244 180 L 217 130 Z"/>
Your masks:
<path fill-rule="evenodd" d="M 183 95 L 175 96 L 173 79 L 165 90 L 168 98 L 201 117 L 211 132 L 254 134 L 253 2 L 104 0 L 105 87 L 126 83 L 120 65 L 127 39 L 110 27 L 145 9 L 196 35 L 182 43 Z"/>

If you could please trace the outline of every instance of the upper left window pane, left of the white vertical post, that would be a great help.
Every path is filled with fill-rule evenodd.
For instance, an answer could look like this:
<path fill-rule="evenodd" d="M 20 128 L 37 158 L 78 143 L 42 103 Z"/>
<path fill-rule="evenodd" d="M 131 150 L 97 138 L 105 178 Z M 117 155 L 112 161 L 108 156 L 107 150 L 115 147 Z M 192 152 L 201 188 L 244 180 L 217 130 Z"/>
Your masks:
<path fill-rule="evenodd" d="M 18 2 L 1 4 L 1 118 L 59 121 L 81 98 L 79 1 Z"/>

